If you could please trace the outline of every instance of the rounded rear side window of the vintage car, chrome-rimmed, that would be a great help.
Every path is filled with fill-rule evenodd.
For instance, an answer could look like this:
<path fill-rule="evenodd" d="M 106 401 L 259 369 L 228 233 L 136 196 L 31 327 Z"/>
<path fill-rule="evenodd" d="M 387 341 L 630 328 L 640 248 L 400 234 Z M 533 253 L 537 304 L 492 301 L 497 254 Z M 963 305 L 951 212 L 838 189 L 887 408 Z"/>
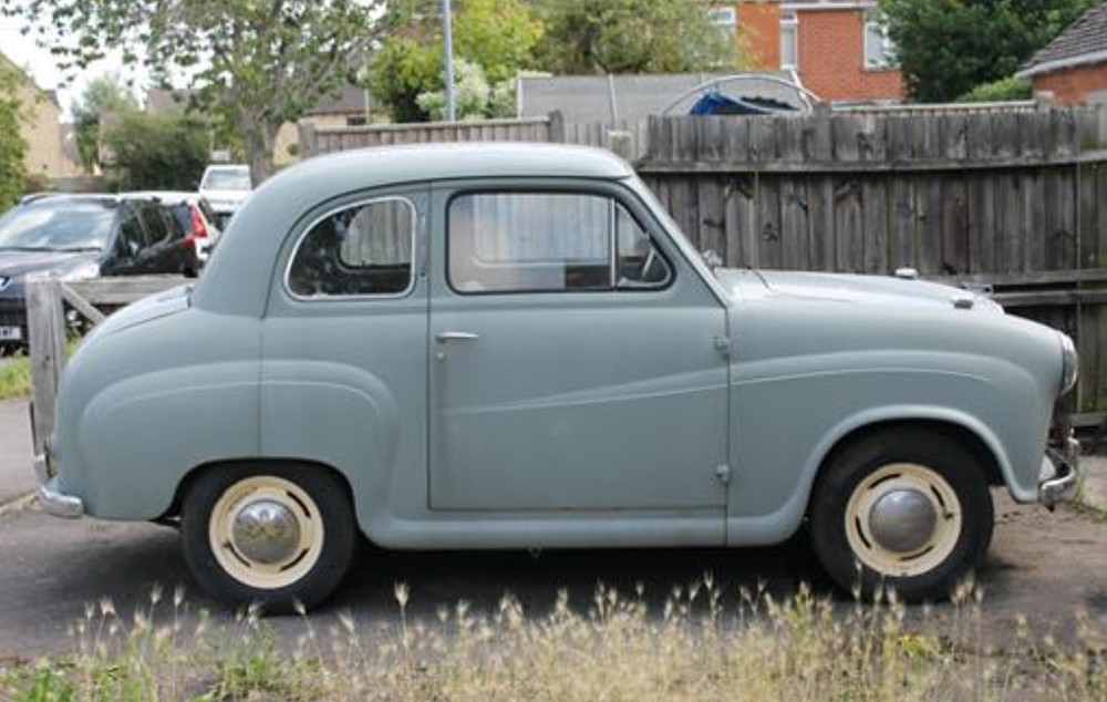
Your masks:
<path fill-rule="evenodd" d="M 317 220 L 288 271 L 298 297 L 406 292 L 413 283 L 415 207 L 387 197 L 344 207 Z"/>

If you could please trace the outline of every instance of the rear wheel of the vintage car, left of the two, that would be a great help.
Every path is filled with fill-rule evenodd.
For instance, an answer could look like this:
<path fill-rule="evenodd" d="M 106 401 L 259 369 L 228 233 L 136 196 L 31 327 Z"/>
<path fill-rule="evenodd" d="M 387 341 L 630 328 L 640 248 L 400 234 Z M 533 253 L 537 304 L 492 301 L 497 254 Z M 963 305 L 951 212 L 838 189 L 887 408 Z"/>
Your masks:
<path fill-rule="evenodd" d="M 200 586 L 275 613 L 330 595 L 358 543 L 342 483 L 324 468 L 280 464 L 207 469 L 185 498 L 182 536 Z"/>

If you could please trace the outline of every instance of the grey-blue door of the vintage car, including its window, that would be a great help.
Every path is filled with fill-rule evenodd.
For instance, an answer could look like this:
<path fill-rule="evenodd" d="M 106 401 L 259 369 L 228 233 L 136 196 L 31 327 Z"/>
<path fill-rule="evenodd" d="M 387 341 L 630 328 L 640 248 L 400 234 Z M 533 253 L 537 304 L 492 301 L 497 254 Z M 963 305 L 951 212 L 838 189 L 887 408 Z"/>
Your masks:
<path fill-rule="evenodd" d="M 721 540 L 726 316 L 649 210 L 540 182 L 432 208 L 431 507 L 680 510 Z"/>

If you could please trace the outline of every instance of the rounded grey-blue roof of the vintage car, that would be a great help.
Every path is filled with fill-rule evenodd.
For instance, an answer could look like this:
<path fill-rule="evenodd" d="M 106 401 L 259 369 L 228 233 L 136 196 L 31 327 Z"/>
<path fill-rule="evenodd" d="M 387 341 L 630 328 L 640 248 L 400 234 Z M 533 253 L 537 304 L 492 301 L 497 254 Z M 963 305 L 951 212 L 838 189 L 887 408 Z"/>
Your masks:
<path fill-rule="evenodd" d="M 226 313 L 259 316 L 269 278 L 244 276 L 275 261 L 289 228 L 313 208 L 343 195 L 384 186 L 459 178 L 633 176 L 611 152 L 563 144 L 467 142 L 383 146 L 307 158 L 254 190 L 224 233 L 221 250 L 197 283 L 193 302 Z M 229 236 L 228 236 L 229 235 Z M 228 268 L 225 275 L 219 269 Z"/>

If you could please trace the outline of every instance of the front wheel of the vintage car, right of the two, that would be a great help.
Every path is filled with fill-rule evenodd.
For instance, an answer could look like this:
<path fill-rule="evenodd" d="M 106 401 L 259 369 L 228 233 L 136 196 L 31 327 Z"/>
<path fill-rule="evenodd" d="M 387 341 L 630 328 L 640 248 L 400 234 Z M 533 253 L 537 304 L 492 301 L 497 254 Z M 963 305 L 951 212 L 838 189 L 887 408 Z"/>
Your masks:
<path fill-rule="evenodd" d="M 979 458 L 951 436 L 900 429 L 839 451 L 816 482 L 811 541 L 823 567 L 871 599 L 945 598 L 981 564 L 992 498 Z"/>

